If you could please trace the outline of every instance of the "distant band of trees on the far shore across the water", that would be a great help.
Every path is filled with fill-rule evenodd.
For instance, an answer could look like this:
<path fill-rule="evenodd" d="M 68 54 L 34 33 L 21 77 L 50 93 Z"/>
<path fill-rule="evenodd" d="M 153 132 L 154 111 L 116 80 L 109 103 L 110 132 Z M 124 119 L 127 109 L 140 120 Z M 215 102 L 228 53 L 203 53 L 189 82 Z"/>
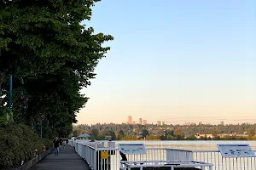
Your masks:
<path fill-rule="evenodd" d="M 157 125 L 157 124 L 114 124 L 97 123 L 95 125 L 80 124 L 73 127 L 73 136 L 81 133 L 89 133 L 92 139 L 104 139 L 104 136 L 112 136 L 117 140 L 180 140 L 180 139 L 222 139 L 222 140 L 246 140 L 255 138 L 256 124 L 228 124 L 228 125 Z M 201 137 L 197 137 L 197 135 Z M 212 138 L 206 134 L 211 134 Z"/>

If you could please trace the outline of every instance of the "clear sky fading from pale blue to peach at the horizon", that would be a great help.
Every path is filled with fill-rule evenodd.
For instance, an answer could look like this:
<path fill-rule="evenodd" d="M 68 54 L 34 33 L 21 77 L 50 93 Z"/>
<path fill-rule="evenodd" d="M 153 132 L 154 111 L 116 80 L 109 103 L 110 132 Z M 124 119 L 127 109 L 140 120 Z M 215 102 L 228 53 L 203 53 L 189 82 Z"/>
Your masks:
<path fill-rule="evenodd" d="M 102 0 L 83 24 L 114 37 L 78 124 L 256 122 L 255 0 Z"/>

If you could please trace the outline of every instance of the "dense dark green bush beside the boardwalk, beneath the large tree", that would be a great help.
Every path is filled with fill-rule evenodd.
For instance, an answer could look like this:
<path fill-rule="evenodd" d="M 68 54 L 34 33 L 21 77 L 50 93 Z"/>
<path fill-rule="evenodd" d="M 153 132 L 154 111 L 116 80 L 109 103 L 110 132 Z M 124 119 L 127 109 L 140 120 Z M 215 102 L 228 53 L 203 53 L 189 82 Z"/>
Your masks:
<path fill-rule="evenodd" d="M 0 127 L 0 169 L 20 165 L 42 152 L 42 145 L 50 148 L 48 139 L 40 139 L 38 135 L 24 124 L 9 123 Z"/>

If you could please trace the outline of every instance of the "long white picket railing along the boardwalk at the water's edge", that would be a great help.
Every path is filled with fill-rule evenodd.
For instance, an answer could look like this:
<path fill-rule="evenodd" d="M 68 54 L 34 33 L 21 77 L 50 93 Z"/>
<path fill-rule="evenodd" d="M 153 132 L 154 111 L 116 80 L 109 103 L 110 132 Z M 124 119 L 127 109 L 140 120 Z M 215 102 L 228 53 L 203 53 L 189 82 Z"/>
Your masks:
<path fill-rule="evenodd" d="M 69 140 L 79 156 L 93 170 L 119 170 L 121 156 L 113 142 Z M 256 150 L 253 150 L 254 152 Z M 108 153 L 108 158 L 102 153 Z M 179 150 L 170 148 L 146 148 L 144 155 L 126 155 L 128 161 L 201 161 L 212 163 L 212 170 L 256 170 L 256 158 L 224 158 L 219 150 Z M 105 159 L 106 158 L 106 159 Z M 210 169 L 209 167 L 205 168 Z"/>

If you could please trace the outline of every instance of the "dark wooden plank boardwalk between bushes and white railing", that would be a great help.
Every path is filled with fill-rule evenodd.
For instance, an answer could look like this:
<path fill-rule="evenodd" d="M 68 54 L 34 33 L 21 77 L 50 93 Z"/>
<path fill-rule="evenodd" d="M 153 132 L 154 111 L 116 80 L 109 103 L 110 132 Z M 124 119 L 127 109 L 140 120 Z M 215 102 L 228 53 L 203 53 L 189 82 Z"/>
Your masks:
<path fill-rule="evenodd" d="M 43 160 L 39 161 L 35 166 L 30 168 L 31 170 L 90 170 L 90 167 L 73 149 L 73 147 L 67 145 L 66 149 L 61 149 L 59 156 L 55 156 L 54 151 L 45 156 Z"/>

